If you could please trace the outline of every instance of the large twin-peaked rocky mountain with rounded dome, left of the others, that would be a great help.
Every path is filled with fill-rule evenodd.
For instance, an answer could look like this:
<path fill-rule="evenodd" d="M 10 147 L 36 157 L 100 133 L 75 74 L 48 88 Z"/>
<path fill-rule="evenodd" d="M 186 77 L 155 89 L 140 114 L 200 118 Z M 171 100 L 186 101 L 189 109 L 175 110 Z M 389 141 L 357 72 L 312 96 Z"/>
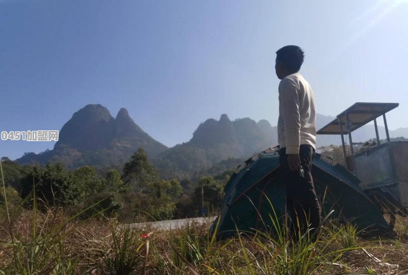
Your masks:
<path fill-rule="evenodd" d="M 68 168 L 120 166 L 139 147 L 143 147 L 149 157 L 168 149 L 144 132 L 125 108 L 121 108 L 113 118 L 106 107 L 89 104 L 75 112 L 64 124 L 53 150 L 26 153 L 16 161 L 41 164 L 60 161 Z"/>

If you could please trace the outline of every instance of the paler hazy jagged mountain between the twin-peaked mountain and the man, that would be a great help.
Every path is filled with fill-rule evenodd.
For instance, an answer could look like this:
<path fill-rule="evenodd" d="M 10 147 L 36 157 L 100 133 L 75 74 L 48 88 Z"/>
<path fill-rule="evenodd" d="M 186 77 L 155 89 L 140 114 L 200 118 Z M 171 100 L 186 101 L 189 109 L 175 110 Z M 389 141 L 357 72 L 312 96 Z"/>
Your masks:
<path fill-rule="evenodd" d="M 162 174 L 172 171 L 192 174 L 207 170 L 229 158 L 243 158 L 276 145 L 275 131 L 268 121 L 250 118 L 231 121 L 221 115 L 219 121 L 208 119 L 194 131 L 189 142 L 174 146 L 153 160 Z"/>

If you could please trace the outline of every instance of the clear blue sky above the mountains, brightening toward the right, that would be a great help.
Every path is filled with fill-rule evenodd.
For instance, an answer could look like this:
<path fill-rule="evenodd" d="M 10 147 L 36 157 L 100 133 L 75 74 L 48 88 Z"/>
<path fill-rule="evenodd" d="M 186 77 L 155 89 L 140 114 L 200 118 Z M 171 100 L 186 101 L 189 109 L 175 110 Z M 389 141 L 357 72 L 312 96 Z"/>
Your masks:
<path fill-rule="evenodd" d="M 317 112 L 399 102 L 408 127 L 408 1 L 0 0 L 0 131 L 60 130 L 125 107 L 166 146 L 208 118 L 277 120 L 275 51 L 299 45 Z M 54 143 L 0 141 L 0 156 Z"/>

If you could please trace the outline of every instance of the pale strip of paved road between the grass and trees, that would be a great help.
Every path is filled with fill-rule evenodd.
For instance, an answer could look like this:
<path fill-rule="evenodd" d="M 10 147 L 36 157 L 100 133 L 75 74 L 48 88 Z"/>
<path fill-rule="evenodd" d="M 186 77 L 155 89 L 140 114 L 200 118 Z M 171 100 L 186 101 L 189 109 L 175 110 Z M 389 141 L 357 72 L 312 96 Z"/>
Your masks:
<path fill-rule="evenodd" d="M 149 228 L 149 229 L 178 229 L 191 225 L 208 225 L 210 227 L 214 222 L 216 216 L 214 217 L 198 217 L 198 218 L 184 218 L 184 219 L 172 219 L 170 221 L 160 221 L 160 222 L 150 222 L 150 223 L 139 223 L 130 224 L 131 228 Z"/>

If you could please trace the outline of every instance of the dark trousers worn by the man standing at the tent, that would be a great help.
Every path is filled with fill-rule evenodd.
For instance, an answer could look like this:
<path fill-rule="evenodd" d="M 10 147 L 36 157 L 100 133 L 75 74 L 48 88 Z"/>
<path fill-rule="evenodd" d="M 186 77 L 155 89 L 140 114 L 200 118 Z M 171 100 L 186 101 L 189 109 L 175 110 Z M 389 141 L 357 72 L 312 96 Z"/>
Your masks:
<path fill-rule="evenodd" d="M 310 145 L 300 145 L 299 156 L 303 177 L 299 171 L 289 169 L 286 148 L 279 150 L 279 161 L 286 184 L 286 207 L 290 211 L 291 235 L 295 240 L 299 239 L 299 232 L 303 235 L 309 228 L 313 233 L 320 224 L 320 205 L 311 174 L 315 149 Z"/>

